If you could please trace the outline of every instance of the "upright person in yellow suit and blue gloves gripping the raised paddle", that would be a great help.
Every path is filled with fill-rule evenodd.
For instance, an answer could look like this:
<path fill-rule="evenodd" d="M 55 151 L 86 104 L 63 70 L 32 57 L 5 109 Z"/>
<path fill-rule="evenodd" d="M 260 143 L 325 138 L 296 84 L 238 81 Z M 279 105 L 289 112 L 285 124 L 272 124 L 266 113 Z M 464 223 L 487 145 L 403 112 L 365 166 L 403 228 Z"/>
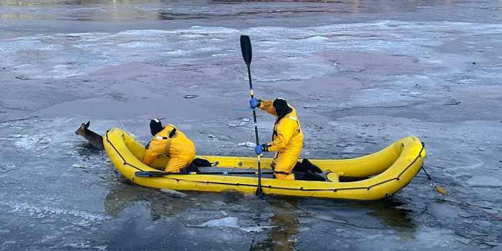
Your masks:
<path fill-rule="evenodd" d="M 324 177 L 310 170 L 294 172 L 303 146 L 303 132 L 298 114 L 284 98 L 257 100 L 251 98 L 250 107 L 260 109 L 277 117 L 273 128 L 272 142 L 254 148 L 257 155 L 266 151 L 277 151 L 272 162 L 275 178 L 304 181 L 325 181 Z"/>

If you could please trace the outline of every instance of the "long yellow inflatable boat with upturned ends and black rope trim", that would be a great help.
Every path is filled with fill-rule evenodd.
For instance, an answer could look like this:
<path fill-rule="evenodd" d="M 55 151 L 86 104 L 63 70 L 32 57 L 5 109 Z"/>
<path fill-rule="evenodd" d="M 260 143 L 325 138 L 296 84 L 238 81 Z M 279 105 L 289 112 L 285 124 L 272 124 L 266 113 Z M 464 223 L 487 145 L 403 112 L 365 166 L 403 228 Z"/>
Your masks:
<path fill-rule="evenodd" d="M 153 167 L 165 167 L 166 156 L 153 162 L 153 167 L 142 163 L 144 146 L 120 128 L 107 131 L 103 137 L 105 149 L 114 167 L 138 185 L 171 190 L 222 192 L 237 190 L 252 194 L 257 190 L 257 178 L 209 174 L 169 174 L 160 177 L 137 177 L 136 172 L 158 172 Z M 198 156 L 220 167 L 256 169 L 252 157 Z M 291 181 L 261 178 L 265 194 L 333 199 L 382 199 L 401 190 L 416 176 L 423 165 L 425 147 L 420 139 L 409 136 L 397 140 L 385 149 L 359 158 L 342 160 L 310 160 L 324 172 L 328 181 Z M 261 166 L 270 169 L 271 158 L 262 158 Z M 254 170 L 253 170 L 254 171 Z M 349 180 L 346 177 L 350 177 Z"/>

